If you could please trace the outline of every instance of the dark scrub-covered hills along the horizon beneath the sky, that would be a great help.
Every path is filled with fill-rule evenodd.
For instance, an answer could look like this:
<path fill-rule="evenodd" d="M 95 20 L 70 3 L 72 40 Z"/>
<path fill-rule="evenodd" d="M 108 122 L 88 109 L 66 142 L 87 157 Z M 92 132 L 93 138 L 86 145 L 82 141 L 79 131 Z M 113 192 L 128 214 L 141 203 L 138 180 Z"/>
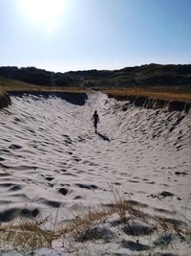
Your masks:
<path fill-rule="evenodd" d="M 87 70 L 54 73 L 35 67 L 0 67 L 0 77 L 47 86 L 102 87 L 167 87 L 191 88 L 191 64 L 149 64 L 119 70 Z"/>

